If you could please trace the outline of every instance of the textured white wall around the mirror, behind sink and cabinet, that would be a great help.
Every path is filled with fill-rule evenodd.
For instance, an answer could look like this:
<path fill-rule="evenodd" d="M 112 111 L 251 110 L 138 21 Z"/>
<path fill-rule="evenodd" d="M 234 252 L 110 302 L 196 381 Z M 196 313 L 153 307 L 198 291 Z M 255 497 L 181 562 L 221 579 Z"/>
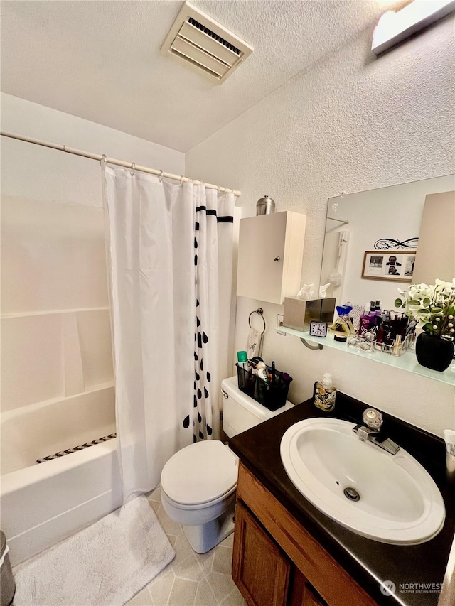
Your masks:
<path fill-rule="evenodd" d="M 306 213 L 302 283 L 319 283 L 328 198 L 454 173 L 454 17 L 378 59 L 369 50 L 374 25 L 186 156 L 188 174 L 242 190 L 243 216 L 255 215 L 264 194 L 277 211 Z M 264 358 L 294 377 L 294 403 L 330 370 L 338 389 L 427 431 L 455 427 L 453 387 L 307 350 L 272 329 L 282 306 L 237 298 L 237 350 L 258 305 L 269 327 Z"/>

